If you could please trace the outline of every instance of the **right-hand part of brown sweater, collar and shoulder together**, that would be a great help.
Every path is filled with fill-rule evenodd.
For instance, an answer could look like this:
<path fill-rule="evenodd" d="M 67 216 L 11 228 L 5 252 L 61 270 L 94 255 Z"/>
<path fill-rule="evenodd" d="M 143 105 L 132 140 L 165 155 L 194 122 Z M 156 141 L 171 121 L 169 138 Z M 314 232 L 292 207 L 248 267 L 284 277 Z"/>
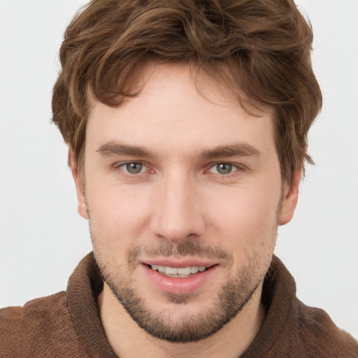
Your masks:
<path fill-rule="evenodd" d="M 243 357 L 358 358 L 358 343 L 339 329 L 324 310 L 306 306 L 296 283 L 273 257 L 262 291 L 266 318 Z"/>

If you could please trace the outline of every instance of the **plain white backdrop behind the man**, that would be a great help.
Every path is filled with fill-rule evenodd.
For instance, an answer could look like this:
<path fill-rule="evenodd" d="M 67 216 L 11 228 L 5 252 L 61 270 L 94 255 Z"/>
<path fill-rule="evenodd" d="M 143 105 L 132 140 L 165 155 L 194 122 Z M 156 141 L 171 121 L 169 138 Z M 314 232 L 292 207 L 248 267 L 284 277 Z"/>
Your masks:
<path fill-rule="evenodd" d="M 315 34 L 324 107 L 277 255 L 306 304 L 358 337 L 358 1 L 296 1 Z M 0 0 L 0 307 L 66 289 L 90 252 L 62 137 L 50 124 L 66 25 L 81 0 Z"/>

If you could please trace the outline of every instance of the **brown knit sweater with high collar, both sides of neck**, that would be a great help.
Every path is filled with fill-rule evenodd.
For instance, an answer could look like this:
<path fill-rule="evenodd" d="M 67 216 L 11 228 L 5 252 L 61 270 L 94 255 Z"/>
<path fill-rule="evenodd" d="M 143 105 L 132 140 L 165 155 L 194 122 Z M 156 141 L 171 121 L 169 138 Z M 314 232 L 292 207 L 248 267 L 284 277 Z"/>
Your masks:
<path fill-rule="evenodd" d="M 102 285 L 91 253 L 71 275 L 66 292 L 1 309 L 0 358 L 117 357 L 96 304 Z M 296 299 L 295 292 L 294 279 L 274 257 L 262 296 L 266 318 L 241 358 L 358 357 L 357 342 L 323 310 Z"/>

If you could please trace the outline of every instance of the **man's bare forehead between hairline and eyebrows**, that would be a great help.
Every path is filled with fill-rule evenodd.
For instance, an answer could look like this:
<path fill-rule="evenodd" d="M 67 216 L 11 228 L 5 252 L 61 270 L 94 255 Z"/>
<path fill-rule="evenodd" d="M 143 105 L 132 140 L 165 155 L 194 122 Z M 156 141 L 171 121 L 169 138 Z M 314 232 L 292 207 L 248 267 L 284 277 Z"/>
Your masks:
<path fill-rule="evenodd" d="M 169 144 L 192 149 L 241 141 L 273 144 L 272 111 L 251 107 L 255 115 L 250 115 L 229 87 L 203 71 L 145 64 L 131 77 L 130 88 L 138 94 L 117 108 L 90 99 L 88 145 L 120 140 L 156 150 Z"/>

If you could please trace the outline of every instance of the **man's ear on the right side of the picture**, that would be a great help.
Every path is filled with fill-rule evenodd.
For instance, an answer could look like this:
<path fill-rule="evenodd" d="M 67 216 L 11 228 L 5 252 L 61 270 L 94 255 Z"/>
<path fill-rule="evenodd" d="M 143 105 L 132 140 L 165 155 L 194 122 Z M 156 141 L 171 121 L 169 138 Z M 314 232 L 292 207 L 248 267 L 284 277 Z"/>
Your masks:
<path fill-rule="evenodd" d="M 301 169 L 294 172 L 292 182 L 285 182 L 283 185 L 283 201 L 278 224 L 285 225 L 294 216 L 294 210 L 299 199 L 299 184 L 301 182 Z"/>

